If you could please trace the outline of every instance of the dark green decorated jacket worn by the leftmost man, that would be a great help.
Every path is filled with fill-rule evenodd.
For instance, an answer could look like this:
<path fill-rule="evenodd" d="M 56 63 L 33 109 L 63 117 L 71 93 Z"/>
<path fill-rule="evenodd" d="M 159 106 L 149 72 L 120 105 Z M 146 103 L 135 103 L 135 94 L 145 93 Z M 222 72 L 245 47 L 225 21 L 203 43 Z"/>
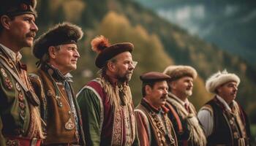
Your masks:
<path fill-rule="evenodd" d="M 33 118 L 31 118 L 31 107 L 33 105 L 29 101 L 23 88 L 12 74 L 17 74 L 23 82 L 26 82 L 27 88 L 33 91 L 30 81 L 26 76 L 24 65 L 20 62 L 15 64 L 4 52 L 0 46 L 0 145 L 5 146 L 8 142 L 7 137 L 37 137 L 32 134 L 34 130 Z M 3 65 L 7 64 L 12 69 L 9 72 Z"/>

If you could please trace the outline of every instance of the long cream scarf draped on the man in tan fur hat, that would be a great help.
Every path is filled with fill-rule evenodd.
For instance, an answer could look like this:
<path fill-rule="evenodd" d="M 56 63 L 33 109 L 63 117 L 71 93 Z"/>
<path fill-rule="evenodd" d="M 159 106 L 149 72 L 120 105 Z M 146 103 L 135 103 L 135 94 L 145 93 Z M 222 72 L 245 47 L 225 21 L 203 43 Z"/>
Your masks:
<path fill-rule="evenodd" d="M 206 136 L 203 128 L 200 128 L 200 123 L 197 120 L 196 112 L 191 107 L 191 104 L 189 104 L 189 110 L 192 111 L 192 113 L 188 113 L 187 110 L 175 99 L 168 98 L 168 101 L 170 101 L 177 108 L 178 114 L 181 115 L 184 120 L 187 120 L 190 131 L 189 140 L 194 142 L 196 145 L 205 146 Z M 192 118 L 190 118 L 191 116 Z"/>

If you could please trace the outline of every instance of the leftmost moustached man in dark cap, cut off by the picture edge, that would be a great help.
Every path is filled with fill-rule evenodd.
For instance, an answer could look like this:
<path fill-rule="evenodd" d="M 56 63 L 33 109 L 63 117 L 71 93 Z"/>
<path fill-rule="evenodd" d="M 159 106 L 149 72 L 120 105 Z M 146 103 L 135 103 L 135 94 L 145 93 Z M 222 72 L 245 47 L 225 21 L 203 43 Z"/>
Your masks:
<path fill-rule="evenodd" d="M 0 145 L 40 145 L 43 138 L 39 99 L 34 94 L 23 47 L 38 31 L 35 0 L 1 0 L 0 4 Z"/>

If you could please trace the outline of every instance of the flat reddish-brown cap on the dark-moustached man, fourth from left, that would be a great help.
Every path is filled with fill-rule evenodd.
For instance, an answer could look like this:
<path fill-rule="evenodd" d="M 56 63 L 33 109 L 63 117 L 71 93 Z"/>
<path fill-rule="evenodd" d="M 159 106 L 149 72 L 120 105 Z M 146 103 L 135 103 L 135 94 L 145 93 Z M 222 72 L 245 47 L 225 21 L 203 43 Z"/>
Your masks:
<path fill-rule="evenodd" d="M 158 82 L 162 80 L 170 80 L 170 76 L 163 74 L 162 72 L 147 72 L 140 75 L 140 80 L 142 82 Z"/>

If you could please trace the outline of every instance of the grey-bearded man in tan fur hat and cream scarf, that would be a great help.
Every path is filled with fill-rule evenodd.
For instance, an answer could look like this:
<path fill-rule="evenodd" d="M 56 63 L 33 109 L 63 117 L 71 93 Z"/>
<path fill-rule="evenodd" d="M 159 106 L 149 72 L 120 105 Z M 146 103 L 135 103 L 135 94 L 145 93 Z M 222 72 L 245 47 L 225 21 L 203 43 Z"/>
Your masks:
<path fill-rule="evenodd" d="M 168 82 L 167 107 L 178 138 L 178 145 L 206 145 L 206 137 L 197 120 L 197 112 L 188 97 L 192 96 L 193 81 L 197 72 L 192 66 L 168 66 L 165 74 L 171 77 Z"/>

